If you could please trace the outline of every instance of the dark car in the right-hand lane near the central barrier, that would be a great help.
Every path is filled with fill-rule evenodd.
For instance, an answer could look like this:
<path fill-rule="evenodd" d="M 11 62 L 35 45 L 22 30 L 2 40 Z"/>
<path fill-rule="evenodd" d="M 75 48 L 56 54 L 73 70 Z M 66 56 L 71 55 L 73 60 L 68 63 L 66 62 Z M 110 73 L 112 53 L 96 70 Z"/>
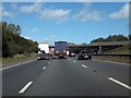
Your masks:
<path fill-rule="evenodd" d="M 82 50 L 80 51 L 80 53 L 76 56 L 78 60 L 82 60 L 82 59 L 87 59 L 87 60 L 92 60 L 92 53 L 88 52 L 87 50 Z"/>

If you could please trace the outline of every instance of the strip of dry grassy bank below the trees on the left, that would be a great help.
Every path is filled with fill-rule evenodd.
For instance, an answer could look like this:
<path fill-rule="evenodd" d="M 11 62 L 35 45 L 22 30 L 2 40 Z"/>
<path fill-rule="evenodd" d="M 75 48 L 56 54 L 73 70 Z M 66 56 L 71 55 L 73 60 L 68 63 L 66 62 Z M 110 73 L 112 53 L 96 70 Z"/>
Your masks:
<path fill-rule="evenodd" d="M 2 58 L 2 68 L 36 59 L 37 53 L 16 54 L 10 58 Z"/>

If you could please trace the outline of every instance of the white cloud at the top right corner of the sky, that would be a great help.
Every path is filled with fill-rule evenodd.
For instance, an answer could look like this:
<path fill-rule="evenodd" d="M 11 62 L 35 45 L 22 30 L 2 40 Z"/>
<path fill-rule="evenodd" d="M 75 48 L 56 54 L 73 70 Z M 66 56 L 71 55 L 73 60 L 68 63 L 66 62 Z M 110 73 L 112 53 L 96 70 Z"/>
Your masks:
<path fill-rule="evenodd" d="M 114 12 L 109 15 L 111 19 L 129 17 L 129 3 L 126 3 L 118 12 Z"/>

